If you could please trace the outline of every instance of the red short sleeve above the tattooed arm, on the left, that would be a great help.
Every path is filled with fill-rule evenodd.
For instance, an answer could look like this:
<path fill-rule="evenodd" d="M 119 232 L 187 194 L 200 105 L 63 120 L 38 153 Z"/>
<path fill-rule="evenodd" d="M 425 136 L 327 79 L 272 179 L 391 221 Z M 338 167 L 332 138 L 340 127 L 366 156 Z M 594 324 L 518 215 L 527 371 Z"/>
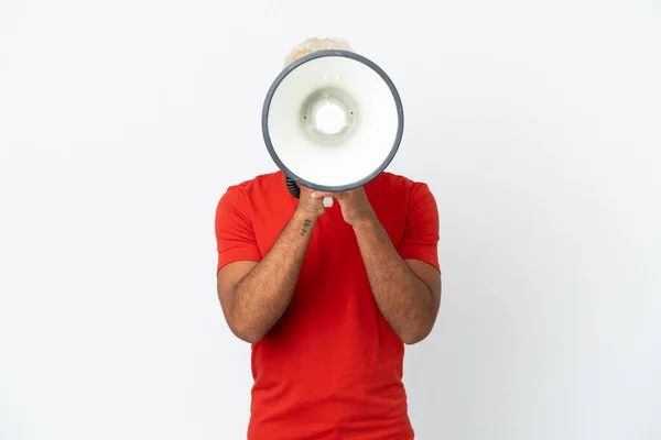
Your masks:
<path fill-rule="evenodd" d="M 250 209 L 240 188 L 230 187 L 216 208 L 216 273 L 229 263 L 261 260 L 252 227 Z"/>

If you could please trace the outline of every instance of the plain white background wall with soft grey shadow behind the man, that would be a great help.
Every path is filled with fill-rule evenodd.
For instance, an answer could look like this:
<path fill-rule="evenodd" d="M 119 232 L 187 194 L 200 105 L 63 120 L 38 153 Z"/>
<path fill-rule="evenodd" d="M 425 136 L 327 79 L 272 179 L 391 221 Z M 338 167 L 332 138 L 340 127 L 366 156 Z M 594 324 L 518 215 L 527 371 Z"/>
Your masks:
<path fill-rule="evenodd" d="M 274 169 L 262 100 L 313 35 L 391 76 L 389 170 L 438 201 L 418 438 L 661 439 L 654 0 L 0 0 L 0 439 L 245 438 L 214 213 Z"/>

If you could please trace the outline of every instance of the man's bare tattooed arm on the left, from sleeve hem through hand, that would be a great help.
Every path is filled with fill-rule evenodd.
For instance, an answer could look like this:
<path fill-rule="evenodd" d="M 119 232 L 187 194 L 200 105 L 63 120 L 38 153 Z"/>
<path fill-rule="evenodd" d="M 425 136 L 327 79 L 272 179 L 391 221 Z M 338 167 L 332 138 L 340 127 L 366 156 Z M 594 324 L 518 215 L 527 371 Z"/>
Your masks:
<path fill-rule="evenodd" d="M 259 263 L 236 261 L 218 271 L 218 298 L 225 319 L 246 342 L 259 342 L 292 299 L 312 230 L 323 212 L 321 200 L 303 199 Z"/>

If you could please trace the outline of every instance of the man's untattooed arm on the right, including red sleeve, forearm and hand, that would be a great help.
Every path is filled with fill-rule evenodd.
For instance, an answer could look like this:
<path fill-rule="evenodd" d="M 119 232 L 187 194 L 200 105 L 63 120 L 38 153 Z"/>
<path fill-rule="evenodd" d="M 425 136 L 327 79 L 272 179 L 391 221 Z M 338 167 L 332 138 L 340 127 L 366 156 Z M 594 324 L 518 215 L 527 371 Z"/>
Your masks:
<path fill-rule="evenodd" d="M 335 197 L 356 233 L 375 300 L 392 330 L 407 344 L 422 341 L 441 306 L 437 262 L 438 212 L 426 185 L 411 191 L 404 237 L 395 249 L 372 210 L 364 188 L 314 193 Z"/>

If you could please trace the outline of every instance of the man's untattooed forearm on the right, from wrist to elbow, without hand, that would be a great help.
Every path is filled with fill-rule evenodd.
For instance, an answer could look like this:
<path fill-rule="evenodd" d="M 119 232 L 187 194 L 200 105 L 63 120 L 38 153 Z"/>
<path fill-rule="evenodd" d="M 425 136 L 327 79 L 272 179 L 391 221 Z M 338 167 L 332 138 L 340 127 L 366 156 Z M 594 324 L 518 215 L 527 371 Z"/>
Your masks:
<path fill-rule="evenodd" d="M 434 324 L 433 298 L 397 252 L 375 218 L 354 227 L 379 310 L 405 343 L 424 339 Z"/>

